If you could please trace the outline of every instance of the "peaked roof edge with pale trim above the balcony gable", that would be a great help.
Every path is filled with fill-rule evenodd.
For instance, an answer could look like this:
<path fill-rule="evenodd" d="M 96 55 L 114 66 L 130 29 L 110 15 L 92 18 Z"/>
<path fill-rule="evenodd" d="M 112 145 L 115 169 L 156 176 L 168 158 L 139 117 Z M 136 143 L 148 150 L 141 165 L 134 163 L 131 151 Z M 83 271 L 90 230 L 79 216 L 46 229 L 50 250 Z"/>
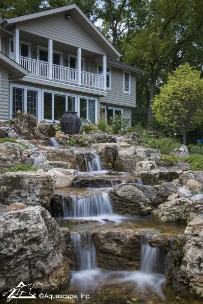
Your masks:
<path fill-rule="evenodd" d="M 111 56 L 111 58 L 118 58 L 121 56 L 121 54 L 116 50 L 116 48 L 113 47 L 113 45 L 108 41 L 108 39 L 106 39 L 106 37 L 89 20 L 89 18 L 87 18 L 87 16 L 79 9 L 79 7 L 76 4 L 66 5 L 60 8 L 24 15 L 20 17 L 3 19 L 0 22 L 0 25 L 2 25 L 5 28 L 8 28 L 16 23 L 25 22 L 46 16 L 57 15 L 59 13 L 66 13 L 70 11 L 71 11 L 71 15 L 75 17 L 75 19 L 77 20 L 78 24 L 81 25 L 81 27 L 85 28 L 85 30 L 89 32 L 89 34 L 93 36 L 97 42 L 100 43 L 103 42 L 103 47 L 107 51 L 107 53 L 112 53 L 113 56 Z"/>

